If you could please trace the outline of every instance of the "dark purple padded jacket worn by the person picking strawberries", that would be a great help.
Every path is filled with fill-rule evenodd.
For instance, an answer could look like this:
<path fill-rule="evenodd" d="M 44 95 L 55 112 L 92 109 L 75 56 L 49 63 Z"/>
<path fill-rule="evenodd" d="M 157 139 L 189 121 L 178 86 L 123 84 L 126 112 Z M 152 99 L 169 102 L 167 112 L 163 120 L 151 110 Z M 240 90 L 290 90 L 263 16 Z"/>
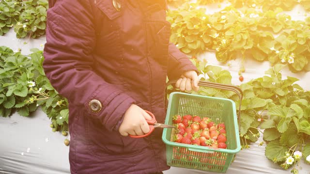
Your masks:
<path fill-rule="evenodd" d="M 57 0 L 47 11 L 44 70 L 69 101 L 72 174 L 168 170 L 162 129 L 146 138 L 118 132 L 135 103 L 163 123 L 167 74 L 196 67 L 169 43 L 165 0 Z M 113 5 L 114 2 L 114 5 Z"/>

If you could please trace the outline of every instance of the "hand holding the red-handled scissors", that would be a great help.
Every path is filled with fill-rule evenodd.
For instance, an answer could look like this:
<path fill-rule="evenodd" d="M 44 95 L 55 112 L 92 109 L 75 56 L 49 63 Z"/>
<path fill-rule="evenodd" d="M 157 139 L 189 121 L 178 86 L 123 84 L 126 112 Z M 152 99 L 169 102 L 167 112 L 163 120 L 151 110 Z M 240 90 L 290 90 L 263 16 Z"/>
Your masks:
<path fill-rule="evenodd" d="M 144 135 L 150 131 L 146 119 L 151 120 L 152 117 L 139 106 L 132 104 L 124 114 L 119 132 L 123 136 L 128 136 L 128 134 L 134 136 Z"/>

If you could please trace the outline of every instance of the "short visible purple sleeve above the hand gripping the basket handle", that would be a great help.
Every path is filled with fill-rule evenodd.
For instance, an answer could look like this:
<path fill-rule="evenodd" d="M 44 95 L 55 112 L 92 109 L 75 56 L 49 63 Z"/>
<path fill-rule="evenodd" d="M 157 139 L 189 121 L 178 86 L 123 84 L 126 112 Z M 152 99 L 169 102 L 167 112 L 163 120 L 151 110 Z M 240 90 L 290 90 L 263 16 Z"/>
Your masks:
<path fill-rule="evenodd" d="M 176 80 L 186 71 L 194 70 L 199 73 L 196 66 L 173 43 L 169 44 L 168 78 Z"/>

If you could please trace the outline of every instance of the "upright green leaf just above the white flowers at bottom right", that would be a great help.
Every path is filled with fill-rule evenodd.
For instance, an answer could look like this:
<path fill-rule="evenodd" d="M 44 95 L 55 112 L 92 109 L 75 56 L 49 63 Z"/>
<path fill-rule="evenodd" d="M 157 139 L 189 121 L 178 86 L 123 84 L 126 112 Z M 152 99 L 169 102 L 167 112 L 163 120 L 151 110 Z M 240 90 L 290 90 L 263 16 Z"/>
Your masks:
<path fill-rule="evenodd" d="M 281 134 L 280 143 L 292 147 L 299 142 L 299 136 L 297 134 L 297 128 L 294 123 L 290 123 L 289 129 Z"/>

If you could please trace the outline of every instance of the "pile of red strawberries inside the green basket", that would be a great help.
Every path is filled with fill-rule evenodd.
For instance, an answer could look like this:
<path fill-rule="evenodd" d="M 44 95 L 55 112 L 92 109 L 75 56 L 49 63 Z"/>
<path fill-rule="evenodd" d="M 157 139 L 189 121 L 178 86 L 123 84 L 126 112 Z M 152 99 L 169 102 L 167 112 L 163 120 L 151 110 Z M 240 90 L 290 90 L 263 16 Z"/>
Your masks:
<path fill-rule="evenodd" d="M 214 148 L 227 148 L 224 123 L 215 124 L 209 117 L 173 116 L 175 136 L 173 141 L 189 145 L 202 145 Z"/>

